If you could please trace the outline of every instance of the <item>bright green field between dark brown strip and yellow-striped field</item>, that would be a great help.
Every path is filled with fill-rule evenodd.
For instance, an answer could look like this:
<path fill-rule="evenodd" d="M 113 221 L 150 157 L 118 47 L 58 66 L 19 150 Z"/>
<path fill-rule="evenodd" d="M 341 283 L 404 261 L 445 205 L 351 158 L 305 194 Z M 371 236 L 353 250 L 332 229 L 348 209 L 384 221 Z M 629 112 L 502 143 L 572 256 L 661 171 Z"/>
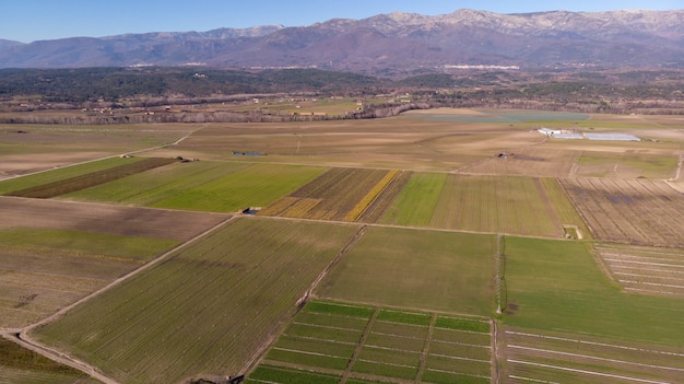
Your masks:
<path fill-rule="evenodd" d="M 154 208 L 236 212 L 269 206 L 322 171 L 294 165 L 178 163 L 63 197 Z"/>

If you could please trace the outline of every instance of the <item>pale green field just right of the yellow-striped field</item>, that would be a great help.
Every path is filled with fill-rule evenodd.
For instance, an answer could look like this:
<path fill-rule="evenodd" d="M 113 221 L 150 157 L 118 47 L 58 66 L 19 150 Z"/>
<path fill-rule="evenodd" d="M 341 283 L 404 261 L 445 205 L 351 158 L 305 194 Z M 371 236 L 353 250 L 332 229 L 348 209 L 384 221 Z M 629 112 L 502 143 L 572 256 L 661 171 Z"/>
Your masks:
<path fill-rule="evenodd" d="M 380 222 L 545 237 L 561 237 L 562 224 L 583 228 L 557 186 L 540 181 L 414 173 Z"/>

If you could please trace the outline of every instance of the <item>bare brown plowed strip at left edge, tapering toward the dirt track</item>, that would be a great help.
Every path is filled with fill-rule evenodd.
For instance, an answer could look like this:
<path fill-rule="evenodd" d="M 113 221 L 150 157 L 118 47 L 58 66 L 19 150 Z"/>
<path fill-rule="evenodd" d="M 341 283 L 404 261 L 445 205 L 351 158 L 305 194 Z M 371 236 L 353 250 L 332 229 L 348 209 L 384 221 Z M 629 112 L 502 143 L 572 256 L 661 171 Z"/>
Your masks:
<path fill-rule="evenodd" d="M 42 228 L 188 241 L 227 214 L 0 197 L 1 228 Z"/>

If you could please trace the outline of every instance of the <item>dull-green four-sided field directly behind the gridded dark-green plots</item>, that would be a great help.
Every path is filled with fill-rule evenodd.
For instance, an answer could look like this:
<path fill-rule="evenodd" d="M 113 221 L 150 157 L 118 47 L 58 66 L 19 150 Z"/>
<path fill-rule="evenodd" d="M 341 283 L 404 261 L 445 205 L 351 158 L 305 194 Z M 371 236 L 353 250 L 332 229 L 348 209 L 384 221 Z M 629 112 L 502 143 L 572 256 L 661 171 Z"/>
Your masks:
<path fill-rule="evenodd" d="M 488 315 L 494 305 L 495 247 L 492 235 L 368 228 L 317 294 L 373 305 Z"/>

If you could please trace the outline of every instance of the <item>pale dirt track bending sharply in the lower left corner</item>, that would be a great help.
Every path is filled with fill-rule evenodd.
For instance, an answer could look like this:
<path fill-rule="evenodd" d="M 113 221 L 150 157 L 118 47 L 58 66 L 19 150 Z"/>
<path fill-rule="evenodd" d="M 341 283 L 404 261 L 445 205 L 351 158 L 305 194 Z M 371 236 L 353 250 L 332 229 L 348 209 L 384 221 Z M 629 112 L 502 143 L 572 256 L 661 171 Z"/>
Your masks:
<path fill-rule="evenodd" d="M 75 301 L 74 303 L 72 303 L 72 304 L 70 304 L 68 306 L 62 307 L 61 310 L 55 312 L 50 316 L 45 317 L 44 319 L 42 319 L 42 321 L 39 321 L 37 323 L 34 323 L 34 324 L 32 324 L 32 325 L 30 325 L 27 327 L 24 327 L 16 335 L 15 338 L 12 338 L 12 340 L 14 342 L 19 342 L 20 345 L 24 346 L 25 348 L 30 348 L 30 349 L 38 352 L 39 354 L 42 354 L 42 356 L 44 356 L 44 357 L 46 357 L 46 358 L 48 358 L 50 360 L 54 360 L 54 361 L 57 361 L 57 362 L 60 362 L 60 363 L 73 366 L 73 368 L 75 368 L 75 369 L 78 369 L 78 370 L 80 370 L 80 371 L 82 371 L 82 372 L 84 372 L 84 373 L 86 373 L 86 374 L 89 374 L 89 375 L 91 375 L 93 377 L 96 377 L 96 379 L 103 381 L 106 384 L 118 384 L 118 382 L 115 381 L 114 379 L 108 377 L 108 376 L 99 373 L 98 369 L 96 366 L 93 366 L 93 365 L 90 365 L 89 363 L 82 362 L 82 361 L 80 361 L 80 360 L 78 360 L 78 359 L 75 359 L 75 358 L 73 358 L 73 357 L 71 357 L 71 356 L 69 356 L 69 354 L 67 354 L 64 352 L 59 351 L 56 348 L 50 348 L 48 346 L 39 344 L 38 341 L 34 340 L 33 338 L 31 338 L 28 336 L 28 331 L 31 331 L 31 330 L 33 330 L 33 329 L 42 326 L 42 325 L 45 325 L 47 323 L 50 323 L 50 322 L 54 322 L 54 321 L 58 319 L 59 317 L 66 315 L 69 311 L 71 311 L 75 306 L 81 305 L 82 303 L 85 303 L 86 301 L 89 301 L 89 300 L 91 300 L 91 299 L 93 299 L 95 296 L 98 296 L 98 295 L 103 294 L 104 292 L 106 292 L 106 291 L 108 291 L 108 290 L 110 290 L 110 289 L 113 289 L 113 288 L 123 283 L 129 278 L 131 278 L 133 276 L 137 276 L 137 275 L 139 275 L 139 274 L 141 274 L 141 272 L 143 272 L 143 271 L 145 271 L 145 270 L 156 266 L 157 264 L 166 260 L 170 255 L 175 254 L 179 249 L 182 249 L 182 248 L 185 248 L 187 246 L 190 246 L 191 244 L 196 243 L 200 238 L 204 237 L 207 234 L 216 231 L 217 229 L 220 229 L 223 225 L 226 225 L 228 222 L 235 220 L 236 218 L 237 217 L 235 217 L 235 216 L 228 217 L 226 220 L 223 220 L 220 223 L 217 223 L 216 225 L 208 229 L 207 231 L 204 231 L 202 233 L 199 233 L 198 235 L 196 235 L 194 237 L 190 238 L 189 241 L 173 247 L 172 249 L 167 251 L 166 253 L 162 254 L 161 256 L 158 256 L 156 258 L 153 258 L 152 260 L 148 261 L 145 265 L 141 266 L 140 268 L 137 268 L 137 269 L 132 270 L 131 272 L 126 274 L 125 276 L 119 277 L 118 279 L 111 281 L 107 286 L 98 289 L 97 291 L 95 291 L 95 292 L 93 292 L 93 293 L 91 293 L 91 294 L 89 294 L 89 295 L 86 295 L 84 298 L 81 298 L 80 300 Z"/>

